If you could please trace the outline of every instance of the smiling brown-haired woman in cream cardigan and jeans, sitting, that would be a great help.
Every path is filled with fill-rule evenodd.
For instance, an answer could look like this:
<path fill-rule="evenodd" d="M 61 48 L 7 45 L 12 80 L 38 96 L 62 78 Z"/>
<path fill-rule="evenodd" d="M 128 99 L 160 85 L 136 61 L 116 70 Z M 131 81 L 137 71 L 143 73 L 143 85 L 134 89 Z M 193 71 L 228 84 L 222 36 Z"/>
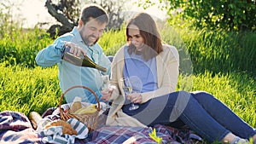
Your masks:
<path fill-rule="evenodd" d="M 256 130 L 207 92 L 175 92 L 177 49 L 162 44 L 150 15 L 141 13 L 126 27 L 128 44 L 113 58 L 112 89 L 102 99 L 113 100 L 106 124 L 152 126 L 186 124 L 207 141 L 245 143 Z M 133 92 L 125 96 L 120 78 L 131 79 Z M 131 101 L 139 108 L 129 110 Z"/>

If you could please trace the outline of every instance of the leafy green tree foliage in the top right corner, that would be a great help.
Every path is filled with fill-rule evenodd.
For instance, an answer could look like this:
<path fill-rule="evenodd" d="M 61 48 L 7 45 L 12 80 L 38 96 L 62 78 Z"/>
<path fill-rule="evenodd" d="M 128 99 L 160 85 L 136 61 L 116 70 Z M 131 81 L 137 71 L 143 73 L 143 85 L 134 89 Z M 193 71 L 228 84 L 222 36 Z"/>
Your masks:
<path fill-rule="evenodd" d="M 152 2 L 147 0 L 143 4 L 148 3 Z M 160 0 L 160 3 L 168 3 L 165 9 L 168 9 L 171 19 L 194 20 L 198 28 L 256 30 L 255 0 Z"/>

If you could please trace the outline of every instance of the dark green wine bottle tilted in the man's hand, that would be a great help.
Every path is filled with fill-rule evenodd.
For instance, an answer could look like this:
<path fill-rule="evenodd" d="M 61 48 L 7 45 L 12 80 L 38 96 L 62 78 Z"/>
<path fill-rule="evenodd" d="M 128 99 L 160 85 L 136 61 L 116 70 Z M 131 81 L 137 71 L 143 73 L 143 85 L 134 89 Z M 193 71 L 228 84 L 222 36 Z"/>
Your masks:
<path fill-rule="evenodd" d="M 91 67 L 102 72 L 107 72 L 107 68 L 97 65 L 93 60 L 90 60 L 87 55 L 81 55 L 81 57 L 79 57 L 70 53 L 69 49 L 68 47 L 65 49 L 62 60 L 66 60 L 75 66 Z"/>

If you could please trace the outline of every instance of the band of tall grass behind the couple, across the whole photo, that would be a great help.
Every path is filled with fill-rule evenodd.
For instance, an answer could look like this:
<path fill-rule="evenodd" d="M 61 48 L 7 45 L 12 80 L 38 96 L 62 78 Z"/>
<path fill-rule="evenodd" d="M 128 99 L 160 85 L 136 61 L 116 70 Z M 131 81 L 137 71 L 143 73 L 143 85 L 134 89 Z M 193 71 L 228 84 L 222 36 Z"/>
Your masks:
<path fill-rule="evenodd" d="M 177 47 L 180 72 L 192 74 L 208 70 L 213 73 L 246 71 L 256 74 L 254 32 L 197 31 L 165 26 L 160 33 L 166 43 Z M 52 42 L 49 34 L 38 29 L 5 34 L 0 41 L 0 62 L 6 66 L 34 67 L 38 51 Z M 125 44 L 125 29 L 104 33 L 99 43 L 106 55 L 114 55 Z"/>

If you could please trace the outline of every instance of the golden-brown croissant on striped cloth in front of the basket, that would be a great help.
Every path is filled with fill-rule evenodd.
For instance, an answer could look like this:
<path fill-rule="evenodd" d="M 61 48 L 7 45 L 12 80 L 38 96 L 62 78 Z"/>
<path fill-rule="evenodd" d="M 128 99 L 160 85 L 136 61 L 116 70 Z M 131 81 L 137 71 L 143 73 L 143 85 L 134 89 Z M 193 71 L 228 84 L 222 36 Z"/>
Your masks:
<path fill-rule="evenodd" d="M 68 134 L 68 135 L 78 135 L 78 132 L 76 130 L 73 130 L 73 127 L 71 124 L 61 120 L 57 119 L 52 121 L 51 123 L 45 125 L 44 129 L 48 130 L 52 126 L 62 126 L 62 135 Z"/>

